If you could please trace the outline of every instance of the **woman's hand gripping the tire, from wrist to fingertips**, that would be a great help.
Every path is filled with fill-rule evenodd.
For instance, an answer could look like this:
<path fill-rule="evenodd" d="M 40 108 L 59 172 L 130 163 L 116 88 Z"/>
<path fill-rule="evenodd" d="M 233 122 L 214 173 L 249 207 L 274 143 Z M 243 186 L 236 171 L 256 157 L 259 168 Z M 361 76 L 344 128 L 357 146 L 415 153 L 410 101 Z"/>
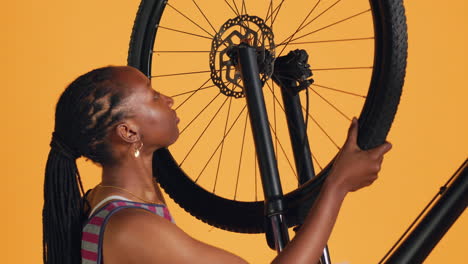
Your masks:
<path fill-rule="evenodd" d="M 357 135 L 358 122 L 353 118 L 348 138 L 326 180 L 327 185 L 333 185 L 344 193 L 371 185 L 377 179 L 384 154 L 392 148 L 389 142 L 385 142 L 376 148 L 362 150 L 357 144 Z"/>

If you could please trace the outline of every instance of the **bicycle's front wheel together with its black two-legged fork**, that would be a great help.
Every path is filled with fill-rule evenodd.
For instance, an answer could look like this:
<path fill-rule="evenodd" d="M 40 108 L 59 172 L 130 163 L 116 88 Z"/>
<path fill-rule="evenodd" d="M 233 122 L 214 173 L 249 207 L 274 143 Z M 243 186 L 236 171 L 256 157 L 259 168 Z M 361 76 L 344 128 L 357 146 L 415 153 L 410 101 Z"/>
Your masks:
<path fill-rule="evenodd" d="M 314 202 L 339 150 L 335 138 L 343 139 L 350 114 L 357 115 L 362 107 L 358 138 L 361 148 L 385 141 L 406 68 L 403 4 L 401 0 L 317 0 L 296 3 L 292 10 L 285 0 L 224 0 L 212 1 L 209 6 L 195 0 L 186 2 L 175 5 L 143 0 L 130 41 L 128 64 L 158 82 L 158 90 L 176 98 L 176 104 L 180 102 L 176 110 L 184 127 L 181 139 L 170 150 L 155 153 L 153 171 L 165 191 L 193 216 L 230 231 L 266 232 L 270 247 L 281 250 L 288 240 L 286 227 L 300 225 Z M 286 17 L 284 13 L 297 15 Z M 342 35 L 333 37 L 330 29 Z M 281 35 L 281 31 L 286 33 Z M 287 53 L 288 47 L 301 47 L 307 52 Z M 363 62 L 354 64 L 358 59 Z M 336 60 L 338 64 L 330 66 L 329 62 Z M 291 67 L 295 70 L 289 70 Z M 171 92 L 168 87 L 174 86 L 173 77 L 180 82 L 190 80 L 194 87 L 177 87 L 177 92 Z M 340 107 L 327 98 L 333 93 Z M 321 100 L 314 106 L 329 107 L 320 108 L 324 109 L 321 116 L 329 121 L 327 124 L 335 121 L 338 129 L 334 132 L 325 131 L 323 120 L 310 114 L 309 94 Z M 195 100 L 197 97 L 201 98 Z M 218 98 L 224 100 L 214 107 Z M 306 102 L 306 107 L 301 101 Z M 227 117 L 218 122 L 217 129 L 215 119 L 223 109 Z M 236 112 L 234 121 L 231 111 Z M 287 118 L 277 115 L 277 111 Z M 213 118 L 206 117 L 209 115 Z M 239 121 L 242 115 L 243 122 Z M 272 122 L 268 115 L 273 116 Z M 255 139 L 246 138 L 249 117 Z M 309 126 L 309 120 L 313 126 Z M 186 136 L 186 131 L 195 137 Z M 232 135 L 236 134 L 238 139 L 234 141 Z M 308 134 L 327 141 L 309 142 Z M 216 135 L 221 135 L 217 144 L 211 140 Z M 290 135 L 291 146 L 280 140 L 285 135 Z M 192 145 L 187 147 L 189 143 Z M 254 143 L 253 150 L 244 150 Z M 194 154 L 201 144 L 212 148 L 211 152 Z M 332 150 L 327 149 L 327 144 Z M 184 153 L 187 149 L 188 153 Z M 325 150 L 320 156 L 310 149 Z M 218 153 L 215 166 L 211 161 Z M 226 163 L 234 160 L 233 153 L 236 162 Z M 223 160 L 223 155 L 229 156 Z M 200 166 L 193 157 L 207 162 Z M 294 165 L 289 157 L 294 157 Z M 323 166 L 324 160 L 328 165 Z M 251 172 L 253 179 L 241 178 L 247 174 L 245 167 L 255 168 Z M 223 184 L 218 182 L 221 168 L 225 168 Z M 226 179 L 226 170 L 234 177 Z M 293 183 L 285 179 L 287 174 L 295 176 Z M 258 194 L 258 175 L 262 177 L 263 197 Z M 253 185 L 254 197 L 246 198 L 238 190 L 246 185 Z"/>

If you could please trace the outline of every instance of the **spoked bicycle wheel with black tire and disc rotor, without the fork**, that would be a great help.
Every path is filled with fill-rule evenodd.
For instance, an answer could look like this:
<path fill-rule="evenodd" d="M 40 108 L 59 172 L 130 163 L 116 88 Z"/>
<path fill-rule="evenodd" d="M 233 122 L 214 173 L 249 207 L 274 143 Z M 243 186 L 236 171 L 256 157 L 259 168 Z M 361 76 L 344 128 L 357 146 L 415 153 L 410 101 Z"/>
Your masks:
<path fill-rule="evenodd" d="M 226 59 L 240 41 L 254 43 L 269 63 L 296 48 L 309 54 L 315 82 L 300 99 L 310 100 L 310 113 L 303 112 L 317 177 L 300 188 L 280 88 L 268 70 L 260 76 L 286 221 L 294 226 L 315 200 L 352 116 L 359 116 L 362 148 L 385 141 L 404 82 L 404 8 L 401 0 L 141 2 L 128 64 L 175 99 L 181 119 L 178 142 L 155 152 L 155 177 L 193 216 L 254 233 L 264 232 L 261 183 L 242 82 Z"/>

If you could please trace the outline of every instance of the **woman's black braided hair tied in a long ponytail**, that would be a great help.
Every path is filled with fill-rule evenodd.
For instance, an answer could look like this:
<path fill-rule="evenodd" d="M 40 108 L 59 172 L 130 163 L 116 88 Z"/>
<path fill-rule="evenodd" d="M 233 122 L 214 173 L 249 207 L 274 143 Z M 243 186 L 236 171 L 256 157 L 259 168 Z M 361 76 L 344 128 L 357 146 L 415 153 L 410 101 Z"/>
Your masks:
<path fill-rule="evenodd" d="M 92 70 L 73 81 L 60 96 L 44 181 L 44 264 L 81 263 L 82 224 L 86 219 L 83 185 L 76 159 L 97 165 L 116 162 L 106 140 L 114 124 L 129 117 L 123 94 L 113 89 L 114 67 Z"/>

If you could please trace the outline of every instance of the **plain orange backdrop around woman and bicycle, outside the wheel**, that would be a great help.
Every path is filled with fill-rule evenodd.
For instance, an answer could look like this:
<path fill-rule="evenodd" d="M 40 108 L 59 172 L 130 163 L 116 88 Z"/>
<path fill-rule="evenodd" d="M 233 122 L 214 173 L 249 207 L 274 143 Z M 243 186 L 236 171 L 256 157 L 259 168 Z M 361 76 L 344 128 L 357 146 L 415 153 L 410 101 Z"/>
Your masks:
<path fill-rule="evenodd" d="M 126 63 L 139 1 L 4 1 L 2 262 L 40 263 L 44 167 L 55 103 L 79 74 Z M 376 263 L 467 158 L 468 3 L 406 1 L 407 77 L 380 178 L 348 196 L 329 242 L 333 263 Z M 99 170 L 79 160 L 86 187 Z M 262 235 L 212 229 L 169 201 L 178 225 L 251 263 L 274 256 Z M 466 261 L 465 212 L 425 263 Z"/>

